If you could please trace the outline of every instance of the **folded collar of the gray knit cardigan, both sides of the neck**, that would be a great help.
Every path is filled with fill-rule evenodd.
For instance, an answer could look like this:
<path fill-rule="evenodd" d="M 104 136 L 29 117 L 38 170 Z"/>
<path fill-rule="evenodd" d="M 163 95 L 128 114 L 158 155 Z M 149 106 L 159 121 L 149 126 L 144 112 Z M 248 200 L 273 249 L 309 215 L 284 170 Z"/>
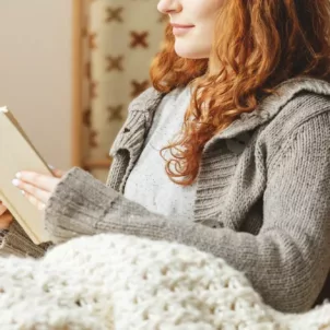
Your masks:
<path fill-rule="evenodd" d="M 261 101 L 254 111 L 241 114 L 225 130 L 211 138 L 205 143 L 204 150 L 219 140 L 233 139 L 270 121 L 300 92 L 330 96 L 330 84 L 323 80 L 313 78 L 291 79 L 279 84 L 275 90 L 276 94 Z M 149 89 L 131 102 L 129 106 L 130 120 L 118 133 L 110 149 L 110 155 L 114 156 L 118 150 L 126 149 L 130 151 L 130 156 L 133 160 L 139 156 L 145 134 L 152 126 L 154 113 L 165 95 L 165 93 L 161 93 L 155 89 Z"/>

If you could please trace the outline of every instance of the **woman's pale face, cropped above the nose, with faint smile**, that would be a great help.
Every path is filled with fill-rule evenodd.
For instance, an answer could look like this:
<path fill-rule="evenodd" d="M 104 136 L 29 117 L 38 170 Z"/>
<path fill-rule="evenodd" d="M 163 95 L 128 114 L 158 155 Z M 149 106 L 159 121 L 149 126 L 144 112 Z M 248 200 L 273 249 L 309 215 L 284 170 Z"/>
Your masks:
<path fill-rule="evenodd" d="M 175 51 L 190 59 L 209 58 L 217 9 L 225 0 L 160 0 L 157 9 L 168 14 Z"/>

